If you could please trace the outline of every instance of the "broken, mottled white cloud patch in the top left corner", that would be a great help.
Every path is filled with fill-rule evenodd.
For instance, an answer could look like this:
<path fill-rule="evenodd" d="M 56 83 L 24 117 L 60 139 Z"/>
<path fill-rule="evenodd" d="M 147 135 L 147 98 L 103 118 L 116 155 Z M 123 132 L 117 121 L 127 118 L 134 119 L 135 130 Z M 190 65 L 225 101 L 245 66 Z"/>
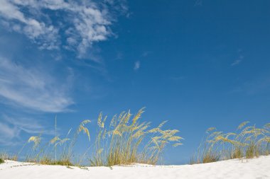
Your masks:
<path fill-rule="evenodd" d="M 41 49 L 65 47 L 82 56 L 94 42 L 113 35 L 114 11 L 127 11 L 117 1 L 1 0 L 0 20 L 23 33 Z"/>

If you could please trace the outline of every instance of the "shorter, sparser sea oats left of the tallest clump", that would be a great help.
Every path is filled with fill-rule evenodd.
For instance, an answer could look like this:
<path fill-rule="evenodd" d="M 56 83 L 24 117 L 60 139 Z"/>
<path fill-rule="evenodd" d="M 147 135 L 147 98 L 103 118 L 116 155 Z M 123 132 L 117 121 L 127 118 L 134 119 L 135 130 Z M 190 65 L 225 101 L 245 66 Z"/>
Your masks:
<path fill-rule="evenodd" d="M 87 128 L 87 124 L 89 123 L 90 120 L 80 122 L 77 130 L 73 132 L 72 137 L 70 137 L 72 133 L 71 129 L 65 137 L 61 138 L 55 132 L 55 136 L 52 139 L 43 143 L 41 134 L 38 136 L 31 136 L 22 146 L 20 151 L 18 151 L 17 156 L 25 151 L 23 158 L 26 162 L 41 163 L 45 165 L 75 166 L 75 164 L 72 163 L 72 156 L 74 156 L 73 149 L 81 133 L 86 134 L 87 138 L 90 140 L 90 132 Z"/>

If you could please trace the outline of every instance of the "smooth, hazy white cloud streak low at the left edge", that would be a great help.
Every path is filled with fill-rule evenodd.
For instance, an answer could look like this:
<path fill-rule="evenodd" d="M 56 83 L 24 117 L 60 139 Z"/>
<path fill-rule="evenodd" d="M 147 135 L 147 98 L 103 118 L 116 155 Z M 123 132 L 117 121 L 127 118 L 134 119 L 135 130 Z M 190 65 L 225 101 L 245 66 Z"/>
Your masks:
<path fill-rule="evenodd" d="M 70 80 L 70 76 L 68 76 Z M 23 67 L 0 57 L 0 99 L 2 103 L 43 112 L 62 112 L 72 104 L 68 82 L 56 81 L 42 70 Z"/>

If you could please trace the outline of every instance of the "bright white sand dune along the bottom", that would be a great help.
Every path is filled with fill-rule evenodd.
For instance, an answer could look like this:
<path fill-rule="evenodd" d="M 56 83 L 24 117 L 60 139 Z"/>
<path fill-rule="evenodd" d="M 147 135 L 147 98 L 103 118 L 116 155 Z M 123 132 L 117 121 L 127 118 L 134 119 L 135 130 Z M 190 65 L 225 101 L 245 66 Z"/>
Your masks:
<path fill-rule="evenodd" d="M 0 164 L 1 179 L 133 179 L 133 178 L 245 178 L 269 179 L 270 156 L 240 161 L 239 159 L 183 166 L 114 166 L 89 167 L 87 170 L 66 166 L 42 166 L 33 163 L 6 161 Z"/>

